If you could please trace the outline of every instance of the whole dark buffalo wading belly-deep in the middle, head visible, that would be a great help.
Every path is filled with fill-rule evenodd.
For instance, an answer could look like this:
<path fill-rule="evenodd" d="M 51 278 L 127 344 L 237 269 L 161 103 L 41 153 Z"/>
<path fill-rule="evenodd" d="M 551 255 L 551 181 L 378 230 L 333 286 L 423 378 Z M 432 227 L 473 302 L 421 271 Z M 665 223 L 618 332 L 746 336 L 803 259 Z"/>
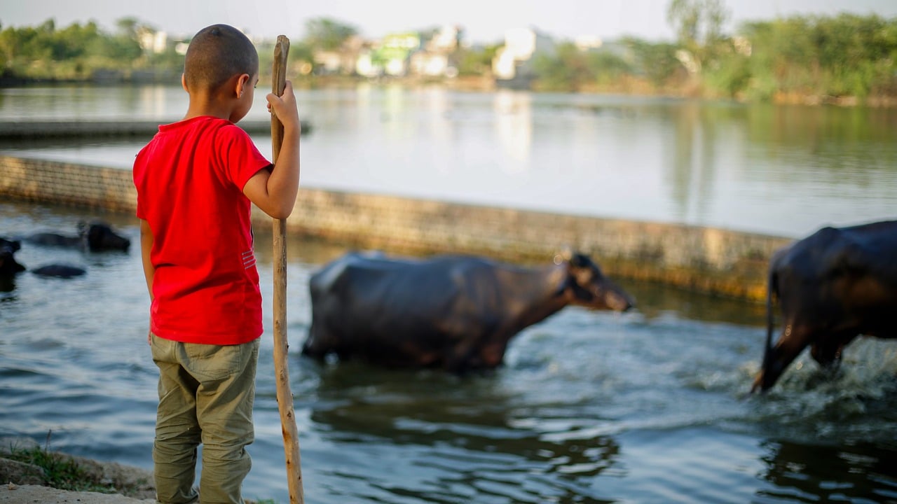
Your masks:
<path fill-rule="evenodd" d="M 514 335 L 567 305 L 633 304 L 582 254 L 540 269 L 472 256 L 348 254 L 313 274 L 309 291 L 306 355 L 457 373 L 500 365 Z"/>

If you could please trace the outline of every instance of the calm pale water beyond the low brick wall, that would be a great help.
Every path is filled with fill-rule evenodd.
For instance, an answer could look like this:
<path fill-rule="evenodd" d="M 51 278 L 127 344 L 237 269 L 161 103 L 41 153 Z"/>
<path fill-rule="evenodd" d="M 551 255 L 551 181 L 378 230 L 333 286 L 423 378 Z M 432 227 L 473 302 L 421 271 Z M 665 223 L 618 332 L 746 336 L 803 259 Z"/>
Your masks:
<path fill-rule="evenodd" d="M 249 117 L 268 117 L 262 87 Z M 897 216 L 894 109 L 369 84 L 297 98 L 313 126 L 306 187 L 788 237 Z M 0 90 L 0 120 L 170 122 L 186 109 L 170 86 Z M 147 140 L 0 152 L 129 169 Z"/>

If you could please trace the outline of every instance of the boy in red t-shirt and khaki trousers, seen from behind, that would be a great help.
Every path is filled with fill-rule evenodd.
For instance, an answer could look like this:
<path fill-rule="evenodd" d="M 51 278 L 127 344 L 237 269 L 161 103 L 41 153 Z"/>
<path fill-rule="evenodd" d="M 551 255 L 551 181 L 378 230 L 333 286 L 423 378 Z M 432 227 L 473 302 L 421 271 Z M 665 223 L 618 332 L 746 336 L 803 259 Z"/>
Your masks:
<path fill-rule="evenodd" d="M 222 24 L 200 30 L 181 76 L 187 115 L 159 126 L 134 163 L 148 338 L 160 371 L 152 460 L 156 499 L 164 504 L 241 503 L 251 465 L 245 447 L 254 439 L 262 298 L 250 202 L 285 219 L 300 171 L 289 81 L 282 97 L 266 97 L 283 123 L 276 166 L 234 124 L 252 106 L 257 82 L 258 54 L 245 35 Z"/>

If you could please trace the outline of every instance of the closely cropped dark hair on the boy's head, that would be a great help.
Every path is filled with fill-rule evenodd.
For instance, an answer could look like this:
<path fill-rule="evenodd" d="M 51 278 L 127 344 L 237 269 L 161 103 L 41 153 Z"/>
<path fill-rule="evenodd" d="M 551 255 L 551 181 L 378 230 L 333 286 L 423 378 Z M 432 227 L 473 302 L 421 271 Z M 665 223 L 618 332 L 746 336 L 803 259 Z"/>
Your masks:
<path fill-rule="evenodd" d="M 258 72 L 256 47 L 242 31 L 227 25 L 207 26 L 190 40 L 184 58 L 187 89 L 217 90 L 234 75 Z"/>

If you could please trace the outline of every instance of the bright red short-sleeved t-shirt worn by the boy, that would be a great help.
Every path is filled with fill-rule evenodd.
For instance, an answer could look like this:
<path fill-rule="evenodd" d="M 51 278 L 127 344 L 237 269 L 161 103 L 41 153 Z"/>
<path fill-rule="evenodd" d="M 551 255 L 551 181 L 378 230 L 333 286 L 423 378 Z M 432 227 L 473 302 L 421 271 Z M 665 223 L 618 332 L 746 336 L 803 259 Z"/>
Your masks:
<path fill-rule="evenodd" d="M 207 344 L 247 343 L 262 334 L 243 187 L 269 166 L 242 128 L 207 116 L 159 126 L 137 154 L 137 217 L 153 236 L 153 334 Z"/>

